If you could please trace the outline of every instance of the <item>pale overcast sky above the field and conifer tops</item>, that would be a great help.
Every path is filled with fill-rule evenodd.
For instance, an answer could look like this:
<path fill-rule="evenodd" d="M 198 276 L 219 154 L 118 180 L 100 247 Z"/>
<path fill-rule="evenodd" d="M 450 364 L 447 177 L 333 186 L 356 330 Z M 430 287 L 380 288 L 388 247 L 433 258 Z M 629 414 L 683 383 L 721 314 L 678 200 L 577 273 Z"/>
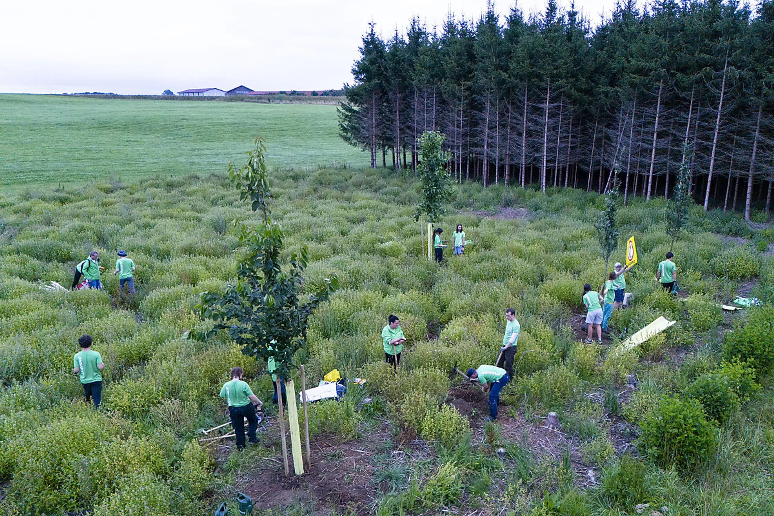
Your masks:
<path fill-rule="evenodd" d="M 546 5 L 528 2 L 527 15 Z M 576 9 L 596 23 L 614 5 L 577 0 Z M 501 15 L 511 6 L 495 3 Z M 486 0 L 4 2 L 0 91 L 341 88 L 352 81 L 368 22 L 387 38 L 415 15 L 432 27 L 449 12 L 475 19 L 485 7 Z"/>

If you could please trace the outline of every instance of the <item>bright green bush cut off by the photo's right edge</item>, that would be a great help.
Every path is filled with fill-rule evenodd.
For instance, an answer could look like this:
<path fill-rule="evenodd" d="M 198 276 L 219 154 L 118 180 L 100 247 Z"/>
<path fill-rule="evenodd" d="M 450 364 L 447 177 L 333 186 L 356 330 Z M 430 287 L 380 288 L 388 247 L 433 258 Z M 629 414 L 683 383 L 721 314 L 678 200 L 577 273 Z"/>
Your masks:
<path fill-rule="evenodd" d="M 748 308 L 747 324 L 726 332 L 724 353 L 729 361 L 738 358 L 768 373 L 774 366 L 774 306 Z"/>

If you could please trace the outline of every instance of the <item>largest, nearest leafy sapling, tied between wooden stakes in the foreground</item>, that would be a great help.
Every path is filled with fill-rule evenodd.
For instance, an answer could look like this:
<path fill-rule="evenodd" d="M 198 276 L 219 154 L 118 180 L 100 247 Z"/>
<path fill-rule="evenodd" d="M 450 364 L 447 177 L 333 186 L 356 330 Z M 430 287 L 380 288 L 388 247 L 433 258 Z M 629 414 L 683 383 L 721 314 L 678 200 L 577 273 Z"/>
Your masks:
<path fill-rule="evenodd" d="M 200 315 L 213 325 L 205 332 L 191 335 L 204 340 L 219 331 L 228 332 L 241 344 L 242 353 L 267 361 L 273 358 L 278 377 L 288 378 L 296 367 L 293 362 L 296 352 L 307 346 L 310 315 L 338 288 L 338 280 L 335 276 L 325 280 L 320 291 L 309 294 L 306 302 L 301 301 L 303 271 L 309 263 L 309 253 L 307 246 L 303 246 L 287 263 L 280 256 L 285 235 L 270 218 L 267 203 L 272 195 L 265 150 L 263 139 L 257 138 L 255 149 L 247 153 L 248 160 L 241 168 L 233 162 L 228 165 L 228 177 L 237 187 L 241 200 L 251 201 L 252 211 L 260 212 L 262 222 L 247 225 L 234 221 L 239 242 L 247 247 L 245 258 L 238 264 L 237 284 L 228 285 L 224 294 L 201 294 L 197 305 Z M 291 384 L 288 384 L 289 390 Z"/>

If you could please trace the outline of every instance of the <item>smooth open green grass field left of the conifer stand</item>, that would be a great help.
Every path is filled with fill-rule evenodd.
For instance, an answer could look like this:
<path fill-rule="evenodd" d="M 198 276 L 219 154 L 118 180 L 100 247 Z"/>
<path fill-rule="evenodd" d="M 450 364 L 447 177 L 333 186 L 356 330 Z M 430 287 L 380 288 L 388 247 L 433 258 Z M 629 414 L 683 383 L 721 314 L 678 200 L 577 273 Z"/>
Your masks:
<path fill-rule="evenodd" d="M 331 105 L 0 95 L 0 187 L 222 173 L 255 136 L 272 167 L 365 166 Z"/>

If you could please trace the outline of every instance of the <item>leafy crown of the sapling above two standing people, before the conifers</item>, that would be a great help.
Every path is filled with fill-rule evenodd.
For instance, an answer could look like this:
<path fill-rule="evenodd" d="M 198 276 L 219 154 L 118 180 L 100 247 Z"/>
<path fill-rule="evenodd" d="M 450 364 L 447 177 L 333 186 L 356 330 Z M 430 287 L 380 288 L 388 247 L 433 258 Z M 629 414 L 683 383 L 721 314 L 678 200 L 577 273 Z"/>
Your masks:
<path fill-rule="evenodd" d="M 439 131 L 425 131 L 416 143 L 420 148 L 420 163 L 416 170 L 422 181 L 422 193 L 425 198 L 416 208 L 414 220 L 427 215 L 430 222 L 438 222 L 446 213 L 444 202 L 454 194 L 451 177 L 446 170 L 449 153 L 442 149 L 446 135 Z"/>

